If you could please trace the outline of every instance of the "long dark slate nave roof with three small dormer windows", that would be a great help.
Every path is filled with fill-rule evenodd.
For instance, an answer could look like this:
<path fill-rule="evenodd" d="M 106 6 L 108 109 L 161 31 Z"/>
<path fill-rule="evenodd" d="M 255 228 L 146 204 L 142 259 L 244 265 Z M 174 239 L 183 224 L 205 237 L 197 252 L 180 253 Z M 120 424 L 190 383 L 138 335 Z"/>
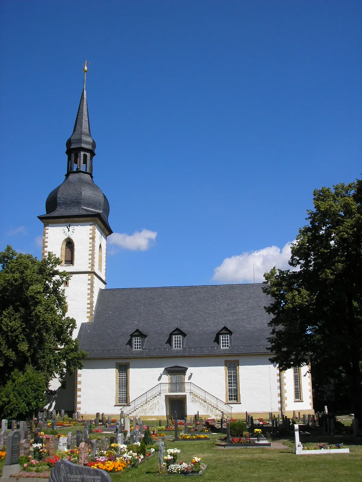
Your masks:
<path fill-rule="evenodd" d="M 262 284 L 172 286 L 100 290 L 90 323 L 82 323 L 80 348 L 88 358 L 130 358 L 267 353 L 270 315 Z M 232 346 L 221 349 L 216 334 L 228 328 Z M 181 349 L 170 333 L 186 334 Z M 146 335 L 132 349 L 131 334 Z"/>

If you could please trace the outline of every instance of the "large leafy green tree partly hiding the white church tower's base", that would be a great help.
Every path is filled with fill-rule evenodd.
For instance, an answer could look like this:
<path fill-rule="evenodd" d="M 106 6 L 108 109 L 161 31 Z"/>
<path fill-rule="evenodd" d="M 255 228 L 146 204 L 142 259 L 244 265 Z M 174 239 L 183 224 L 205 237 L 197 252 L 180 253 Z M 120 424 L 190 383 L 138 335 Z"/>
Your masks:
<path fill-rule="evenodd" d="M 57 269 L 52 253 L 38 260 L 11 246 L 0 253 L 0 265 L 0 387 L 28 367 L 46 387 L 55 375 L 62 381 L 87 354 L 72 339 L 75 320 L 66 316 L 63 283 L 70 275 Z"/>

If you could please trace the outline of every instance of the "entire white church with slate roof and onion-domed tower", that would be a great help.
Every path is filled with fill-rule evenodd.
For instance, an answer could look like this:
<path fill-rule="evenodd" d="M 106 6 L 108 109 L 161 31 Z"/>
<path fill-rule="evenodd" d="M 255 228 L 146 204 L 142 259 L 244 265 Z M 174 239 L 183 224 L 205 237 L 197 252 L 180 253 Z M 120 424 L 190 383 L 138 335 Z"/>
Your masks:
<path fill-rule="evenodd" d="M 262 284 L 106 288 L 110 206 L 93 181 L 96 143 L 84 88 L 66 143 L 65 180 L 48 196 L 42 256 L 53 252 L 65 286 L 82 370 L 54 381 L 51 408 L 149 418 L 312 414 L 308 367 L 269 362 Z"/>

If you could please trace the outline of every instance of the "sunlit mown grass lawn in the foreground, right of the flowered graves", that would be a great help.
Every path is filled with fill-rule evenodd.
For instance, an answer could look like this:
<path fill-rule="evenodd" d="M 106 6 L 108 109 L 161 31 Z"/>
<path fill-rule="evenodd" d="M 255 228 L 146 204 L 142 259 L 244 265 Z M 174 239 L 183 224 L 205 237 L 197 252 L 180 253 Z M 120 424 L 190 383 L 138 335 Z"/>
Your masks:
<path fill-rule="evenodd" d="M 201 481 L 225 482 L 360 482 L 362 480 L 362 445 L 349 445 L 349 454 L 294 455 L 292 449 L 215 447 L 215 438 L 197 442 L 166 442 L 166 449 L 181 449 L 178 462 L 190 462 L 200 456 L 208 465 Z M 284 441 L 279 441 L 284 442 Z M 291 444 L 290 441 L 288 441 Z M 142 463 L 137 469 L 111 474 L 112 482 L 134 480 L 182 481 L 183 475 L 156 475 L 158 454 Z M 192 479 L 195 481 L 195 479 Z M 196 479 L 198 481 L 199 479 Z M 196 482 L 195 481 L 195 482 Z"/>

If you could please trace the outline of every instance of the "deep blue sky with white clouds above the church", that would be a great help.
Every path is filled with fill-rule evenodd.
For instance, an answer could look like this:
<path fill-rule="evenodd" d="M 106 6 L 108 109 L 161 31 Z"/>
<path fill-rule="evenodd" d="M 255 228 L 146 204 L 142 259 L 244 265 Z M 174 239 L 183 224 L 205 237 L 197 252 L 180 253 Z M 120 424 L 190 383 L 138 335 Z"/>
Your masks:
<path fill-rule="evenodd" d="M 108 287 L 250 282 L 253 263 L 260 281 L 286 266 L 313 189 L 361 175 L 360 1 L 0 9 L 1 249 L 41 255 L 85 58 L 94 181 L 119 233 Z"/>

